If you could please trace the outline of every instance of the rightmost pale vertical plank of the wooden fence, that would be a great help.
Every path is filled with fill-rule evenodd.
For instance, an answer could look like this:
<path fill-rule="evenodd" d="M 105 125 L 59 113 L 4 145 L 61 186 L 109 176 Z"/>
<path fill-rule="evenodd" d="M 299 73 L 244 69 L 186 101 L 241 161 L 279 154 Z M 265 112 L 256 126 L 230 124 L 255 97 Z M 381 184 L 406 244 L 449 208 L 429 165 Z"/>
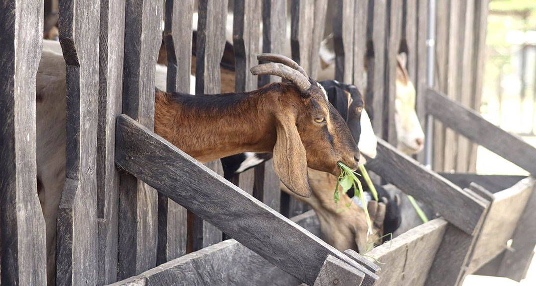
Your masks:
<path fill-rule="evenodd" d="M 474 17 L 474 74 L 471 100 L 471 108 L 475 111 L 480 111 L 480 102 L 482 98 L 482 86 L 484 81 L 484 61 L 486 58 L 486 33 L 488 25 L 488 3 L 489 0 L 475 1 L 475 17 Z M 473 144 L 470 153 L 469 172 L 477 171 L 477 144 Z"/>

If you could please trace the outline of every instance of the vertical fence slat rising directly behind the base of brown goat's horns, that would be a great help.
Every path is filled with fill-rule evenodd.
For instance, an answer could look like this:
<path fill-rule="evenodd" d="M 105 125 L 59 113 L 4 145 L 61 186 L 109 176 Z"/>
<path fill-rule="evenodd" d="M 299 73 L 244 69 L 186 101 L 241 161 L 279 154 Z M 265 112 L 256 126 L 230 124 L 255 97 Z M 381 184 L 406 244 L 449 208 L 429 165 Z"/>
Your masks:
<path fill-rule="evenodd" d="M 314 0 L 291 1 L 292 59 L 311 74 L 312 31 L 314 27 Z"/>

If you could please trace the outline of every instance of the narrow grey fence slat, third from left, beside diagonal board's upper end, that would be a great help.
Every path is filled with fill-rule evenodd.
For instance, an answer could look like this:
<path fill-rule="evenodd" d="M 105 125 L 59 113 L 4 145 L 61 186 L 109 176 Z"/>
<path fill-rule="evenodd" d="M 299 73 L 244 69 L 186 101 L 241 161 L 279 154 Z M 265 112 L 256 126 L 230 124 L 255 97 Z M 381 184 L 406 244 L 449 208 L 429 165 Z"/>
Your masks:
<path fill-rule="evenodd" d="M 117 281 L 119 172 L 115 167 L 115 118 L 121 114 L 125 1 L 101 0 L 99 118 L 97 130 L 98 284 Z"/>

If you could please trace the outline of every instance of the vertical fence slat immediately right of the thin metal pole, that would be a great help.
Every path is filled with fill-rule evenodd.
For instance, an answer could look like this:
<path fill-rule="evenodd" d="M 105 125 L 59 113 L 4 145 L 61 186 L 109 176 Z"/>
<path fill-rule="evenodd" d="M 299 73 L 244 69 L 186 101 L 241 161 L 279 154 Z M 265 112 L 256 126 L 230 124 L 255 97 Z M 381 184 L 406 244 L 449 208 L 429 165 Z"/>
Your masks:
<path fill-rule="evenodd" d="M 428 0 L 427 0 L 428 1 Z M 437 68 L 434 71 L 436 80 L 434 80 L 434 89 L 446 94 L 448 79 L 448 59 L 449 59 L 449 1 L 437 1 L 436 3 L 436 62 Z M 422 52 L 422 51 L 421 51 Z M 426 77 L 426 76 L 425 76 Z M 424 96 L 424 90 L 421 90 L 421 96 Z M 437 172 L 444 171 L 445 158 L 445 127 L 443 123 L 434 120 L 434 136 L 429 138 L 434 140 L 434 158 L 433 169 Z"/>

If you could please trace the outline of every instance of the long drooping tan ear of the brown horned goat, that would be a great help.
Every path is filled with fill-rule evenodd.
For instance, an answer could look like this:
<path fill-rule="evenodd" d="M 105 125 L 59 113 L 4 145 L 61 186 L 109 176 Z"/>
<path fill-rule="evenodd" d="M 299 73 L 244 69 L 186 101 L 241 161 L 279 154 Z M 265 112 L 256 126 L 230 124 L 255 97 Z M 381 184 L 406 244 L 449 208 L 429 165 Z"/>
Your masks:
<path fill-rule="evenodd" d="M 281 182 L 293 193 L 309 197 L 311 187 L 307 174 L 306 151 L 296 129 L 294 118 L 277 118 L 277 140 L 273 148 L 273 167 Z"/>

